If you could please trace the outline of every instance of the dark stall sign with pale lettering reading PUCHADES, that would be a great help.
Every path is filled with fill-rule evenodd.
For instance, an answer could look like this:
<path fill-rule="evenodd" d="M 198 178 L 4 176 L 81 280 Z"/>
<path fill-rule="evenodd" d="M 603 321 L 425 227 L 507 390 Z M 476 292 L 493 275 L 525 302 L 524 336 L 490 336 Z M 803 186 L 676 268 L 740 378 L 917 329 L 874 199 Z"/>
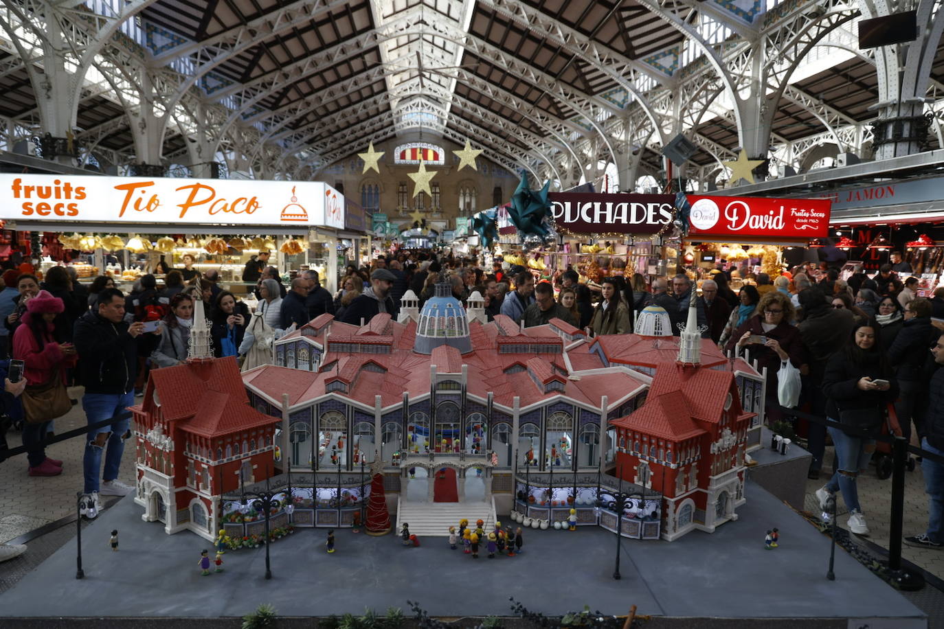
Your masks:
<path fill-rule="evenodd" d="M 657 234 L 672 220 L 673 194 L 551 192 L 558 231 L 572 234 Z"/>

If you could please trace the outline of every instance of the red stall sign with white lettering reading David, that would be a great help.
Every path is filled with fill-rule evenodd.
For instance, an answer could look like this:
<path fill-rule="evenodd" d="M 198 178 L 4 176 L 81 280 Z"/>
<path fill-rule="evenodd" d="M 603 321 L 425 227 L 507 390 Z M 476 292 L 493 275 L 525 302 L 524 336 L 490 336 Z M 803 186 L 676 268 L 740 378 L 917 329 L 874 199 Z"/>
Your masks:
<path fill-rule="evenodd" d="M 813 239 L 829 232 L 831 202 L 826 199 L 762 199 L 688 195 L 692 204 L 689 238 Z"/>

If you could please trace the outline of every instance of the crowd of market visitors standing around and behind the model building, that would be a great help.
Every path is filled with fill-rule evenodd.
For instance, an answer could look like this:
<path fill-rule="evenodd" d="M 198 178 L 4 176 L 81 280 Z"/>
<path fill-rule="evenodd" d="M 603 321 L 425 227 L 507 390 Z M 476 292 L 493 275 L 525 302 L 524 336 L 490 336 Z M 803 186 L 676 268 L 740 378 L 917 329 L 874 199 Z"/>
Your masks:
<path fill-rule="evenodd" d="M 800 404 L 814 415 L 874 432 L 891 406 L 905 437 L 914 426 L 922 444 L 944 452 L 944 405 L 933 403 L 944 390 L 944 370 L 936 369 L 944 363 L 944 324 L 936 321 L 944 319 L 944 288 L 930 299 L 919 297 L 916 278 L 897 259 L 872 279 L 857 270 L 843 280 L 837 269 L 811 263 L 772 280 L 766 273 L 719 267 L 651 281 L 634 273 L 598 282 L 581 281 L 567 269 L 535 282 L 523 266 L 496 262 L 486 271 L 470 259 L 400 253 L 376 257 L 369 267 L 348 266 L 332 295 L 313 271 L 299 273 L 286 286 L 263 252 L 246 264 L 243 275 L 256 283 L 252 312 L 218 286 L 218 273 L 195 270 L 193 259 L 185 259 L 183 269 L 169 269 L 162 288 L 146 274 L 128 294 L 108 276 L 95 278 L 86 290 L 67 268 L 50 269 L 42 282 L 34 274 L 8 270 L 0 290 L 0 349 L 24 361 L 27 397 L 29 388 L 83 385 L 81 404 L 93 424 L 131 406 L 149 370 L 187 359 L 197 301 L 210 319 L 214 356 L 236 356 L 249 369 L 271 360 L 274 339 L 318 316 L 327 313 L 358 325 L 379 313 L 396 319 L 408 290 L 422 306 L 438 283 L 447 283 L 464 305 L 479 292 L 489 320 L 501 314 L 529 327 L 558 319 L 594 336 L 632 333 L 636 314 L 648 306 L 665 309 L 678 336 L 692 291 L 700 290 L 695 305 L 702 337 L 766 370 L 768 422 L 784 419 L 778 378 L 789 363 L 801 373 Z M 43 448 L 55 423 L 30 417 L 30 405 L 23 408 L 28 473 L 61 473 L 62 462 Z M 90 430 L 83 463 L 90 505 L 99 495 L 132 491 L 117 478 L 128 429 L 125 421 Z M 806 430 L 813 455 L 810 478 L 822 471 L 828 436 L 835 446 L 833 473 L 818 491 L 824 510 L 841 493 L 851 530 L 868 534 L 855 479 L 874 440 L 812 422 Z M 911 538 L 915 545 L 944 543 L 944 466 L 934 465 L 925 461 L 933 471 L 926 472 L 932 523 L 927 533 Z"/>

